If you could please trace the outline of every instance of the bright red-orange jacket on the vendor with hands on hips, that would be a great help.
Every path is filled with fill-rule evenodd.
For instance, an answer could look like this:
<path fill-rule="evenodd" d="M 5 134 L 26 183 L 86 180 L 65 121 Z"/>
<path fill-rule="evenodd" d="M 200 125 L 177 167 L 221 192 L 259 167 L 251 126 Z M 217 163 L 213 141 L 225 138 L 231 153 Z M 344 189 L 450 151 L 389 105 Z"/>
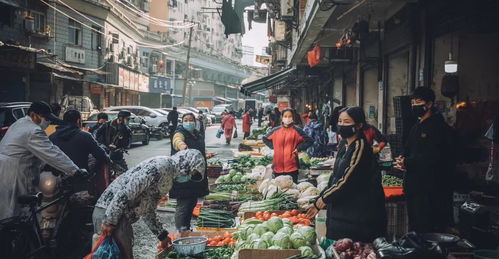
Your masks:
<path fill-rule="evenodd" d="M 272 167 L 276 173 L 291 173 L 299 169 L 298 157 L 293 151 L 305 151 L 313 143 L 305 132 L 295 125 L 290 127 L 279 126 L 272 129 L 263 137 L 263 142 L 274 149 Z"/>

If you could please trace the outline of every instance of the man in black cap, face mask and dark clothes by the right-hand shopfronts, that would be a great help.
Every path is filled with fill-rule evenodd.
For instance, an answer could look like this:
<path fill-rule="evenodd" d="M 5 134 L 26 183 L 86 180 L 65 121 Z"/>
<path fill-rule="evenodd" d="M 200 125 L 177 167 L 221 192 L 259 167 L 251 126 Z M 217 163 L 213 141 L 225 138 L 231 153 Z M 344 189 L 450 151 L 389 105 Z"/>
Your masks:
<path fill-rule="evenodd" d="M 434 107 L 435 93 L 418 87 L 412 111 L 419 122 L 409 133 L 404 155 L 395 168 L 405 172 L 409 230 L 443 232 L 452 225 L 452 179 L 455 167 L 454 131 Z"/>

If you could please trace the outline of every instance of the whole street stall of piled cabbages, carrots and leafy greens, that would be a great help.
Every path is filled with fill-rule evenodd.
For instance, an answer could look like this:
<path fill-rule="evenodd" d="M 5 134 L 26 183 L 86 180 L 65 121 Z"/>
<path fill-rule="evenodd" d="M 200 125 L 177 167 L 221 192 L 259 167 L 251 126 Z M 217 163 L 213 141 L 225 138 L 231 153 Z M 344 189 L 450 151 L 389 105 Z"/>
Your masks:
<path fill-rule="evenodd" d="M 260 140 L 265 130 L 255 130 L 252 140 L 234 150 L 233 159 L 208 161 L 210 194 L 195 209 L 195 230 L 172 236 L 174 250 L 158 258 L 445 258 L 456 251 L 437 249 L 441 240 L 432 240 L 434 236 L 407 234 L 402 179 L 388 170 L 382 172 L 387 236 L 373 243 L 327 239 L 326 211 L 312 219 L 306 211 L 328 187 L 334 157 L 301 154 L 298 184 L 291 176 L 273 178 L 272 152 Z M 388 163 L 380 161 L 380 168 L 390 168 Z M 169 206 L 174 202 L 163 202 L 160 208 Z M 463 243 L 460 251 L 471 249 Z"/>

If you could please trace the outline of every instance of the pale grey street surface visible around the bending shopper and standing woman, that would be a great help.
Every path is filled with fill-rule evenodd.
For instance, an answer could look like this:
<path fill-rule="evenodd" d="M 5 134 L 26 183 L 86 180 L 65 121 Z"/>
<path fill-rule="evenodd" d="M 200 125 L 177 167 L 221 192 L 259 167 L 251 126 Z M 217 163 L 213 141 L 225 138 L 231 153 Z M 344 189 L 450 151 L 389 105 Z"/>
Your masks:
<path fill-rule="evenodd" d="M 243 133 L 241 132 L 241 120 L 237 120 L 238 138 L 233 139 L 230 145 L 225 144 L 223 136 L 216 137 L 220 124 L 215 124 L 206 129 L 206 151 L 215 152 L 215 159 L 228 159 L 232 157 L 232 150 L 237 149 L 241 143 Z M 141 161 L 153 156 L 170 155 L 170 140 L 151 140 L 149 145 L 133 145 L 129 150 L 126 160 L 129 168 L 137 165 Z M 158 211 L 161 222 L 166 224 L 168 231 L 175 232 L 174 213 Z M 139 220 L 133 225 L 134 229 L 134 258 L 154 258 L 156 253 L 157 238 L 149 231 L 144 221 Z"/>

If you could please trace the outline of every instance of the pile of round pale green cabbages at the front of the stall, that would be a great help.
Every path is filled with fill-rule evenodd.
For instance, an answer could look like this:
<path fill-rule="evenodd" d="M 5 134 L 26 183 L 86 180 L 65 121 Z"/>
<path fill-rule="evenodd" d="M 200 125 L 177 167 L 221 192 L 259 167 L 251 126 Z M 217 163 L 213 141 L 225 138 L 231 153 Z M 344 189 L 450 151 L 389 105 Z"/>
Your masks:
<path fill-rule="evenodd" d="M 239 249 L 299 249 L 302 256 L 313 256 L 316 243 L 315 229 L 295 226 L 291 221 L 272 217 L 268 221 L 247 220 L 238 227 L 233 237 Z"/>

